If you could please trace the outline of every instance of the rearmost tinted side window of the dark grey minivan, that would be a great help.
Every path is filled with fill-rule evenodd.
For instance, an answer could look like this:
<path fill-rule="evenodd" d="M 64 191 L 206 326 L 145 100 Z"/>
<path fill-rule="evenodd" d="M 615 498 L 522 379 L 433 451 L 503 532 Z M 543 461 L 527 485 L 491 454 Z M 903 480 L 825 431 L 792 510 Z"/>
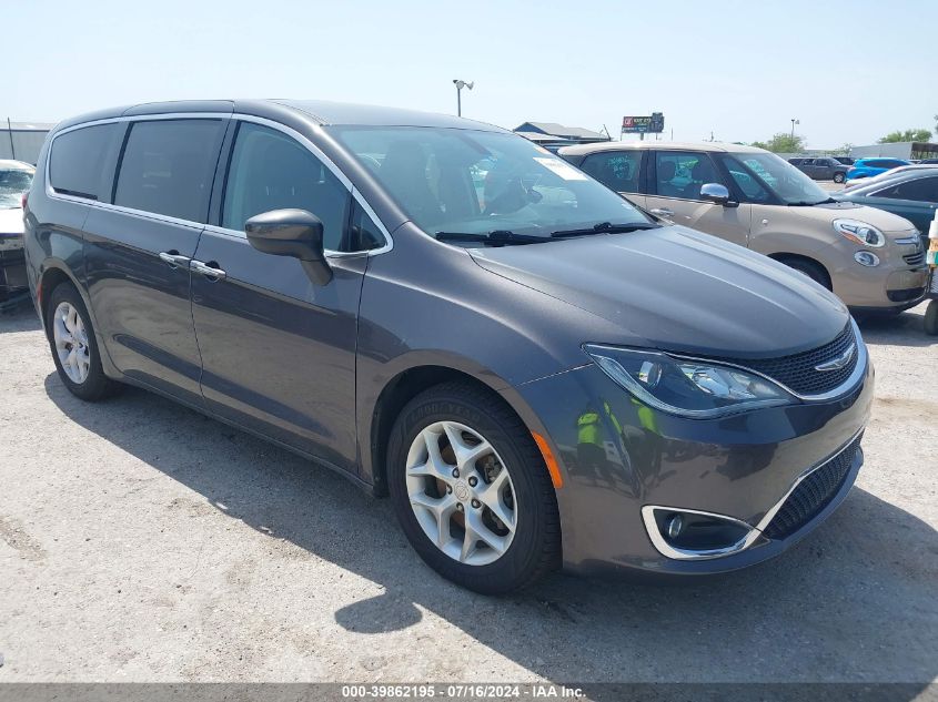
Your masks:
<path fill-rule="evenodd" d="M 57 193 L 107 200 L 113 173 L 104 173 L 118 124 L 84 126 L 57 136 L 49 157 L 49 182 Z"/>

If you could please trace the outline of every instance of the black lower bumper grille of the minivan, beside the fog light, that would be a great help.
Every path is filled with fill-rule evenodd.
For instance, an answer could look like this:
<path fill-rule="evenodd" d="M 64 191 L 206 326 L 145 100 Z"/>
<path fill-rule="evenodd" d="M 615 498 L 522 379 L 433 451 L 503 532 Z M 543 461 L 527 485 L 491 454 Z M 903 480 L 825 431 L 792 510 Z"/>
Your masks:
<path fill-rule="evenodd" d="M 784 539 L 817 517 L 847 479 L 861 438 L 863 435 L 857 436 L 839 454 L 801 480 L 763 533 L 769 539 Z"/>

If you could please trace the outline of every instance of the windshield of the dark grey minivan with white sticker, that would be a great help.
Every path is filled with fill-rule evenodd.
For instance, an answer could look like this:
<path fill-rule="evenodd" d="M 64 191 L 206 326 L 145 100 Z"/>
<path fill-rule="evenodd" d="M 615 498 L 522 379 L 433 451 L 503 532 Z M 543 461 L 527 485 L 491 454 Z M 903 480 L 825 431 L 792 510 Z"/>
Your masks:
<path fill-rule="evenodd" d="M 561 230 L 649 223 L 605 185 L 514 134 L 420 126 L 333 133 L 428 234 L 546 240 Z"/>

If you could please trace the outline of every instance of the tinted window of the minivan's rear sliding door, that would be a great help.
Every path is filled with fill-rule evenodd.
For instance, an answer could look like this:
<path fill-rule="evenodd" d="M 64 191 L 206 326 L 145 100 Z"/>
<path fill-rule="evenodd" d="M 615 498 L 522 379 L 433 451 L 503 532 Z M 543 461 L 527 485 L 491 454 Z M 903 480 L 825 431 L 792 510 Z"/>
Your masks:
<path fill-rule="evenodd" d="M 121 157 L 114 204 L 204 222 L 221 131 L 220 120 L 134 123 Z"/>

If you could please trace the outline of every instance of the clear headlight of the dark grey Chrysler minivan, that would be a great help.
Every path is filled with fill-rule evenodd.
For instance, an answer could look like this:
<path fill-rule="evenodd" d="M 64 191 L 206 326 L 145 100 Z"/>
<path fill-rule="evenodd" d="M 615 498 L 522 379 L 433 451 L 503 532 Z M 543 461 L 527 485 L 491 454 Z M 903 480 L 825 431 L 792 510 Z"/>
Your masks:
<path fill-rule="evenodd" d="M 775 383 L 732 366 L 596 344 L 583 349 L 619 386 L 673 415 L 706 419 L 797 401 Z"/>

